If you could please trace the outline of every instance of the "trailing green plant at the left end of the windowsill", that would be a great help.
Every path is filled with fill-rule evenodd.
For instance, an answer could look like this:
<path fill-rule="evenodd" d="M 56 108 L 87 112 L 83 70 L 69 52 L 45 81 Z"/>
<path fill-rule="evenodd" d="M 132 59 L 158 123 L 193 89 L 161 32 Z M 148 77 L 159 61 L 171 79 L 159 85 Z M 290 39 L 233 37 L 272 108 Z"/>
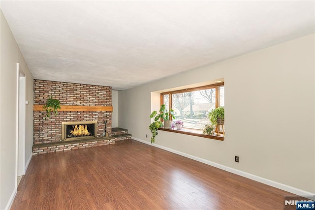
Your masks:
<path fill-rule="evenodd" d="M 149 129 L 152 133 L 152 137 L 151 137 L 151 144 L 155 143 L 155 137 L 158 135 L 158 128 L 163 126 L 163 123 L 161 121 L 162 120 L 170 120 L 170 117 L 172 117 L 172 119 L 175 119 L 174 116 L 174 110 L 170 109 L 169 112 L 166 110 L 165 108 L 165 104 L 161 105 L 161 108 L 159 109 L 159 111 L 153 111 L 150 115 L 150 118 L 154 118 L 154 122 L 152 122 L 149 126 Z"/>

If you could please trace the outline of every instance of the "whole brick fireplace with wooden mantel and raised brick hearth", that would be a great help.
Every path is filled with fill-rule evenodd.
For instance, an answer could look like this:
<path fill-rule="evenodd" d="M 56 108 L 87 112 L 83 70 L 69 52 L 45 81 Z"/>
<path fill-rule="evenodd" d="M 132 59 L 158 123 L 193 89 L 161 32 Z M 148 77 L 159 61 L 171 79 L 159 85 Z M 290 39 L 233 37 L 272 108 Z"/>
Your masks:
<path fill-rule="evenodd" d="M 43 106 L 50 95 L 61 102 L 61 109 L 58 116 L 45 120 Z M 129 140 L 127 130 L 112 133 L 112 111 L 111 87 L 35 79 L 33 155 Z M 72 136 L 73 133 L 76 135 Z"/>

